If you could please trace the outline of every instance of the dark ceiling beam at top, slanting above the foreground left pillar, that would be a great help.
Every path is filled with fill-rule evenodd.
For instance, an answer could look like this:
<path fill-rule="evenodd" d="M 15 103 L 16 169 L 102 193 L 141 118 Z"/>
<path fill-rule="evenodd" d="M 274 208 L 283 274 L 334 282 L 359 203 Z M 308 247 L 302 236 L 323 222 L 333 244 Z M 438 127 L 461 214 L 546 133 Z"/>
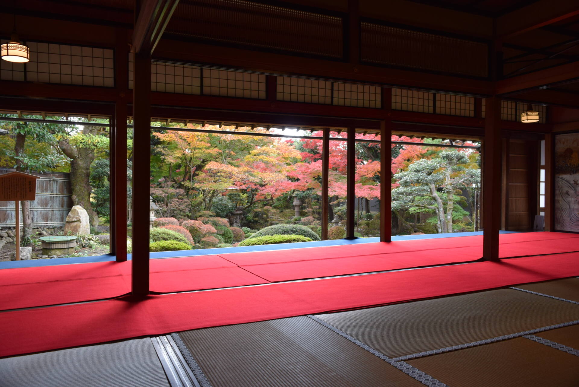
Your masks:
<path fill-rule="evenodd" d="M 131 52 L 150 55 L 163 35 L 179 0 L 141 0 L 133 30 Z"/>

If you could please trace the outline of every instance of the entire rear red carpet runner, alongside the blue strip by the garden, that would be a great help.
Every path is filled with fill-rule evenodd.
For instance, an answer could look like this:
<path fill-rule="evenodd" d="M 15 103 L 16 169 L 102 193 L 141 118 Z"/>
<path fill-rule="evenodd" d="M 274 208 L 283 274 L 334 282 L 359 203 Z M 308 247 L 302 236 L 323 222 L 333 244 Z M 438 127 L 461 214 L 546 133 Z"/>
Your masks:
<path fill-rule="evenodd" d="M 579 235 L 500 235 L 501 257 L 579 250 Z M 482 236 L 363 243 L 151 260 L 158 293 L 243 286 L 477 260 Z M 225 258 L 225 259 L 224 259 Z M 239 266 L 238 266 L 239 265 Z M 130 262 L 0 270 L 0 311 L 118 297 L 130 291 Z"/>

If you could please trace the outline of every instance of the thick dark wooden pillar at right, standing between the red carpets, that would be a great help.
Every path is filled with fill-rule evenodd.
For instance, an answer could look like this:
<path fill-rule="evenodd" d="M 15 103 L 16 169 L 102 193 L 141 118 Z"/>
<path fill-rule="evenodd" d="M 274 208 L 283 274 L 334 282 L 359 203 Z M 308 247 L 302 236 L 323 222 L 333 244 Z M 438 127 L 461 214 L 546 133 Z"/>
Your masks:
<path fill-rule="evenodd" d="M 499 230 L 501 226 L 501 100 L 486 98 L 485 138 L 483 148 L 482 220 L 485 260 L 499 260 Z"/>

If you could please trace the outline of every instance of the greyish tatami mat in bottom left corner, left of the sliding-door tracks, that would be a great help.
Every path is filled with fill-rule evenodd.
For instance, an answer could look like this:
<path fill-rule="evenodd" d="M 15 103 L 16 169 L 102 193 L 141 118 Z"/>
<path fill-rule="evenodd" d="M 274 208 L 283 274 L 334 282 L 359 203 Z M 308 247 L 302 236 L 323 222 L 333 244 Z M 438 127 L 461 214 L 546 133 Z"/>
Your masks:
<path fill-rule="evenodd" d="M 0 359 L 2 387 L 168 387 L 151 339 Z"/>

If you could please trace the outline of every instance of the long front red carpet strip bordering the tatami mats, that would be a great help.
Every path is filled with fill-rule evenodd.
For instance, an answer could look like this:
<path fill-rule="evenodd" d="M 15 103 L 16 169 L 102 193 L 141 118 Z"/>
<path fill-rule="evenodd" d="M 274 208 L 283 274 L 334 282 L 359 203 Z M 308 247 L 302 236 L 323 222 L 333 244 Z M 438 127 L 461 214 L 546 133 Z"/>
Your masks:
<path fill-rule="evenodd" d="M 579 253 L 0 313 L 0 356 L 579 275 Z"/>

